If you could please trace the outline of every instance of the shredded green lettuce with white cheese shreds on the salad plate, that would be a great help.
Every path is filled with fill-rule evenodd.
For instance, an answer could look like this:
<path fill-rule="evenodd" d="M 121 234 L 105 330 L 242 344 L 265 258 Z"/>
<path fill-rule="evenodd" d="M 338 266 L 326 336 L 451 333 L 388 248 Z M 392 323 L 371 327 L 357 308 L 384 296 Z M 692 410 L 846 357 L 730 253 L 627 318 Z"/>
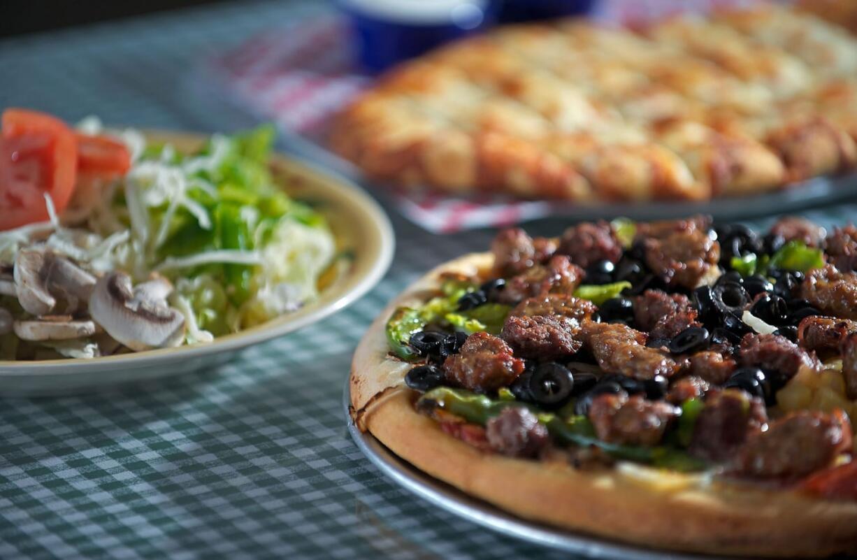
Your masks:
<path fill-rule="evenodd" d="M 321 214 L 273 178 L 274 135 L 269 125 L 213 135 L 199 153 L 182 154 L 170 144 L 146 145 L 133 131 L 117 133 L 134 165 L 93 201 L 87 229 L 97 242 L 75 258 L 123 269 L 135 281 L 166 276 L 189 343 L 296 310 L 316 297 L 336 243 Z"/>

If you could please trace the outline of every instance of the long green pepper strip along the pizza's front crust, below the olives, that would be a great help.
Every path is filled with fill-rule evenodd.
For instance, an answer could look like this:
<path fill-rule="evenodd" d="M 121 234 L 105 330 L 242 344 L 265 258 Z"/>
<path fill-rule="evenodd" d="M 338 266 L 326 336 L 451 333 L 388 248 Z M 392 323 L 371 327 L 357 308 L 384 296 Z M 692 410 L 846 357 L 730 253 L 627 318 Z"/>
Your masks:
<path fill-rule="evenodd" d="M 548 428 L 548 433 L 561 442 L 578 447 L 597 447 L 616 459 L 649 463 L 655 467 L 686 472 L 698 471 L 705 467 L 701 461 L 696 461 L 677 449 L 646 448 L 602 442 L 596 437 L 589 419 L 584 416 L 572 416 L 563 419 L 549 412 L 540 412 L 535 407 L 523 402 L 492 400 L 484 394 L 470 393 L 448 387 L 434 388 L 423 394 L 420 403 L 428 401 L 435 403 L 447 412 L 478 425 L 485 425 L 488 423 L 488 418 L 500 414 L 500 411 L 507 406 L 523 406 L 535 413 L 539 422 Z"/>

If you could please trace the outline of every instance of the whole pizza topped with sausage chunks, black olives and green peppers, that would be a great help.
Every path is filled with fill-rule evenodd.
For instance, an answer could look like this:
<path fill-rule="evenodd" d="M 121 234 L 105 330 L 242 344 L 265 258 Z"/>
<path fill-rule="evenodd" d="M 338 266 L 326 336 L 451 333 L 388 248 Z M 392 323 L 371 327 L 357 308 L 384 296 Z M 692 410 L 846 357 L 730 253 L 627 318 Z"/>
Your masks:
<path fill-rule="evenodd" d="M 857 552 L 857 228 L 519 228 L 385 310 L 351 417 L 526 520 L 709 554 Z"/>

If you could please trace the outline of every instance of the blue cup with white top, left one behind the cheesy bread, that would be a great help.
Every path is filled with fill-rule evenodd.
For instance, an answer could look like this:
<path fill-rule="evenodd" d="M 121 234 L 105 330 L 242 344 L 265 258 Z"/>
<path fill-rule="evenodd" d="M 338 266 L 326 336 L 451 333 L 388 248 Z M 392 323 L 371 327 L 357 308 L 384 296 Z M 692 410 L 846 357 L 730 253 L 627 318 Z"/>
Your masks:
<path fill-rule="evenodd" d="M 488 0 L 339 0 L 357 61 L 377 73 L 496 21 Z"/>

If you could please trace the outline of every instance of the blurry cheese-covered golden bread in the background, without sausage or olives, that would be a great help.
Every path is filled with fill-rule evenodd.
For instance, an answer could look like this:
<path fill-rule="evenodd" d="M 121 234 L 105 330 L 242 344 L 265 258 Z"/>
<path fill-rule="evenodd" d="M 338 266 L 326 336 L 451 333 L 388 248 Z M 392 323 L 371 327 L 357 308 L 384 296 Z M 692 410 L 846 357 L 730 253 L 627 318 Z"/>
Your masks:
<path fill-rule="evenodd" d="M 857 166 L 857 38 L 788 7 L 499 27 L 404 63 L 334 123 L 370 178 L 704 201 Z"/>

